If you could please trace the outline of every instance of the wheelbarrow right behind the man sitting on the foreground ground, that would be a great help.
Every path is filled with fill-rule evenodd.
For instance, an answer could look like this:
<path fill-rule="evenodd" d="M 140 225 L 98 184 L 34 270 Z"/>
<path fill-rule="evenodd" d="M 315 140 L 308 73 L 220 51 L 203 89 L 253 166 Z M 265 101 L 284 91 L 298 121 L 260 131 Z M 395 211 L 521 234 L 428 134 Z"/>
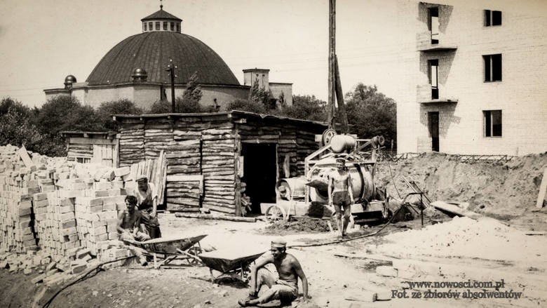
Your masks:
<path fill-rule="evenodd" d="M 245 253 L 237 250 L 215 250 L 202 253 L 198 257 L 206 267 L 209 267 L 211 282 L 220 283 L 225 279 L 235 279 L 247 283 L 245 275 L 250 272 L 250 265 L 262 254 L 264 251 Z M 222 274 L 215 276 L 212 272 L 213 269 Z"/>

